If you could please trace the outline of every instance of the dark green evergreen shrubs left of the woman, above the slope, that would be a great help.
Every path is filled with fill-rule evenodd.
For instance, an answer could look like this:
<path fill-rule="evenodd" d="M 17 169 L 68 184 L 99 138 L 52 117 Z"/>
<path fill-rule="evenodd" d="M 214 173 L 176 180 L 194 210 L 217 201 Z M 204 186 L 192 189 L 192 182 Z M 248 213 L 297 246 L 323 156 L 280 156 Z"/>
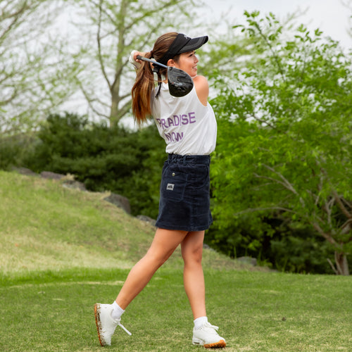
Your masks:
<path fill-rule="evenodd" d="M 158 176 L 165 159 L 157 134 L 154 126 L 129 132 L 70 113 L 50 115 L 26 166 L 36 172 L 73 174 L 91 191 L 126 196 L 134 215 L 156 218 Z"/>

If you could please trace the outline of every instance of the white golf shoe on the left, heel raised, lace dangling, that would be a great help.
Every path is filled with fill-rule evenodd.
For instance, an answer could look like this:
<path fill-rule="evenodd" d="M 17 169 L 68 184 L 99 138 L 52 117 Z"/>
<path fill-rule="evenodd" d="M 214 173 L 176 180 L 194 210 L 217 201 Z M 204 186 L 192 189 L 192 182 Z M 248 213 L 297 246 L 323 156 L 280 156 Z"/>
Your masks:
<path fill-rule="evenodd" d="M 127 334 L 132 335 L 122 324 L 120 324 L 120 319 L 115 320 L 111 317 L 112 311 L 112 304 L 96 303 L 94 306 L 96 329 L 98 330 L 98 337 L 101 346 L 111 345 L 111 337 L 117 326 L 122 327 Z"/>

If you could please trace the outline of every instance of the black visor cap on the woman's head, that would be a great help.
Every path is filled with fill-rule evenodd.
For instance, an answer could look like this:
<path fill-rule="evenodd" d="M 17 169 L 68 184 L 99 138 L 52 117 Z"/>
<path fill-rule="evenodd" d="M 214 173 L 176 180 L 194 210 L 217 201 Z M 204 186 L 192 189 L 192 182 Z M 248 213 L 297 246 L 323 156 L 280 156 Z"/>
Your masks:
<path fill-rule="evenodd" d="M 159 60 L 159 62 L 166 65 L 170 58 L 182 53 L 187 53 L 188 51 L 199 49 L 203 44 L 206 44 L 206 42 L 208 42 L 207 35 L 204 37 L 190 38 L 185 34 L 179 33 L 170 45 L 168 52 L 163 56 L 163 58 L 161 58 L 161 60 Z"/>

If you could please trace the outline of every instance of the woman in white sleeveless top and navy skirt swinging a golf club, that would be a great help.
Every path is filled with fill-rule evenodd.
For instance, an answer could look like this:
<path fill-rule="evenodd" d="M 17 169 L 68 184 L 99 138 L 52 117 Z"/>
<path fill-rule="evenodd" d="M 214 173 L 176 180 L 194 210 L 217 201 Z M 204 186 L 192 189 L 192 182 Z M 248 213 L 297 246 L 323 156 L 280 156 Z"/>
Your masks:
<path fill-rule="evenodd" d="M 158 268 L 181 244 L 184 260 L 184 289 L 194 315 L 193 344 L 206 348 L 225 347 L 225 339 L 206 316 L 205 285 L 201 266 L 204 232 L 211 225 L 209 196 L 209 154 L 215 149 L 216 120 L 209 105 L 208 81 L 197 75 L 195 50 L 208 37 L 189 38 L 170 32 L 159 37 L 153 50 L 132 51 L 130 61 L 137 68 L 132 88 L 132 111 L 138 124 L 153 116 L 167 144 L 168 160 L 163 166 L 161 198 L 156 234 L 146 255 L 134 265 L 113 304 L 96 303 L 96 327 L 102 346 L 111 344 L 121 315 L 149 282 Z M 186 96 L 171 96 L 167 69 L 140 61 L 153 58 L 188 73 L 194 87 Z M 154 73 L 158 75 L 155 89 Z M 127 332 L 127 330 L 125 329 Z M 130 332 L 127 332 L 130 334 Z"/>

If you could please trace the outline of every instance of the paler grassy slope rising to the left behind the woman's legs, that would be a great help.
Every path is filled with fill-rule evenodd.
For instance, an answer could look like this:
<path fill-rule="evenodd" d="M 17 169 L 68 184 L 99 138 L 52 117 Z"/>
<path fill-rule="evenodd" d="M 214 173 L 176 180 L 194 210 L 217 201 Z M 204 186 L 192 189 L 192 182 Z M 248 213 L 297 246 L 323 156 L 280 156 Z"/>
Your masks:
<path fill-rule="evenodd" d="M 148 249 L 155 229 L 103 201 L 106 196 L 0 171 L 1 272 L 130 268 Z M 215 251 L 204 252 L 206 267 L 240 268 Z M 180 250 L 168 265 L 182 265 Z"/>

